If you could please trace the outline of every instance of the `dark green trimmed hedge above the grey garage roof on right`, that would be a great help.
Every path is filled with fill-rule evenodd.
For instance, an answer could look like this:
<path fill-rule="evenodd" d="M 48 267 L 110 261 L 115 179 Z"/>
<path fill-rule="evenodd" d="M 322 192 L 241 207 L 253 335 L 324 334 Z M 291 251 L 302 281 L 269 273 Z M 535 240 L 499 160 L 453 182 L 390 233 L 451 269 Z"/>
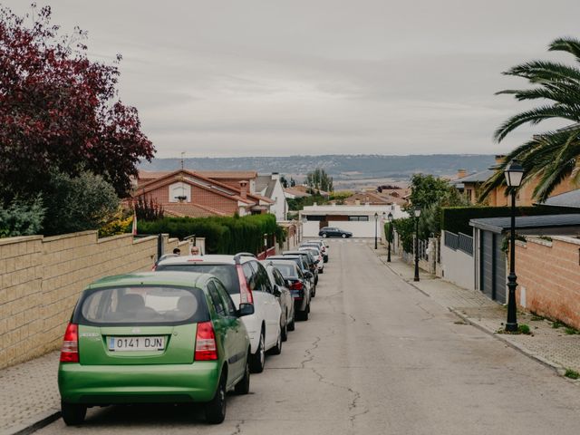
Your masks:
<path fill-rule="evenodd" d="M 558 215 L 577 213 L 577 208 L 517 207 L 516 216 Z M 441 208 L 441 230 L 471 235 L 469 220 L 479 218 L 507 218 L 509 207 L 449 207 Z"/>

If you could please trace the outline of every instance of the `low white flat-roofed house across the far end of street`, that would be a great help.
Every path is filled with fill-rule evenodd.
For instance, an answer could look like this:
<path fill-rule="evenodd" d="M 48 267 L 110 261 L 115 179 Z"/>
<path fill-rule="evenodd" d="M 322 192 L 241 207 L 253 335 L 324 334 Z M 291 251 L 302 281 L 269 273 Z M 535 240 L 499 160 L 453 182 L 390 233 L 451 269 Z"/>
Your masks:
<path fill-rule="evenodd" d="M 382 236 L 389 213 L 392 218 L 408 218 L 409 215 L 396 204 L 382 206 L 306 206 L 299 213 L 304 237 L 317 237 L 322 227 L 338 227 L 353 233 L 353 237 Z"/>

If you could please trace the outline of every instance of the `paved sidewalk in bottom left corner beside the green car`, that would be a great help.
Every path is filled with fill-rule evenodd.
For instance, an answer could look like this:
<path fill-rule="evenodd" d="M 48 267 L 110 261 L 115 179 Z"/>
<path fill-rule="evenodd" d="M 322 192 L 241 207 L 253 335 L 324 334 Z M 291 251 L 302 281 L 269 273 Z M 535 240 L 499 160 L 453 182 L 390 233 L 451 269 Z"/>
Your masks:
<path fill-rule="evenodd" d="M 60 417 L 59 352 L 0 370 L 0 435 L 30 433 Z"/>

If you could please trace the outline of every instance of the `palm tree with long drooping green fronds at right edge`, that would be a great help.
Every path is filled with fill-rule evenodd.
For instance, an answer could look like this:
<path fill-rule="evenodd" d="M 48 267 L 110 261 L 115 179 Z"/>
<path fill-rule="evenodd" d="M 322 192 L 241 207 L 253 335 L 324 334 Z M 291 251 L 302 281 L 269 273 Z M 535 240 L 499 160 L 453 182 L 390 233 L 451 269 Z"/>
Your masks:
<path fill-rule="evenodd" d="M 580 41 L 560 38 L 550 43 L 548 51 L 565 52 L 575 56 L 580 63 Z M 496 173 L 483 185 L 480 199 L 505 184 L 504 169 L 510 160 L 520 160 L 525 169 L 523 183 L 538 179 L 534 198 L 544 201 L 556 186 L 567 177 L 580 180 L 576 160 L 580 156 L 580 69 L 563 63 L 533 61 L 517 65 L 504 74 L 523 77 L 532 85 L 526 90 L 506 90 L 497 94 L 514 95 L 517 101 L 547 100 L 541 106 L 523 111 L 505 121 L 494 133 L 500 142 L 507 134 L 523 124 L 536 125 L 549 119 L 570 122 L 564 129 L 537 134 L 512 150 L 499 165 Z"/>

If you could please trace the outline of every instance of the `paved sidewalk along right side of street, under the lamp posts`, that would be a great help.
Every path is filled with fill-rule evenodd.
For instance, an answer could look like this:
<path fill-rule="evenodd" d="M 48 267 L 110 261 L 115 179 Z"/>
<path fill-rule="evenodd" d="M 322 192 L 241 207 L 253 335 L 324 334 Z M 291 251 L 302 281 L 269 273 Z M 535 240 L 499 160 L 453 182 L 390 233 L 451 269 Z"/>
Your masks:
<path fill-rule="evenodd" d="M 527 356 L 555 369 L 564 375 L 566 369 L 580 372 L 580 335 L 568 335 L 564 327 L 554 328 L 547 319 L 528 313 L 517 313 L 517 323 L 527 324 L 531 334 L 503 334 L 507 309 L 488 299 L 477 290 L 466 290 L 434 275 L 420 273 L 420 281 L 414 282 L 414 267 L 403 263 L 399 256 L 380 255 L 382 263 L 400 275 L 420 292 L 430 296 L 433 301 L 458 314 L 465 322 L 473 324 L 482 331 L 492 334 L 504 343 Z"/>

